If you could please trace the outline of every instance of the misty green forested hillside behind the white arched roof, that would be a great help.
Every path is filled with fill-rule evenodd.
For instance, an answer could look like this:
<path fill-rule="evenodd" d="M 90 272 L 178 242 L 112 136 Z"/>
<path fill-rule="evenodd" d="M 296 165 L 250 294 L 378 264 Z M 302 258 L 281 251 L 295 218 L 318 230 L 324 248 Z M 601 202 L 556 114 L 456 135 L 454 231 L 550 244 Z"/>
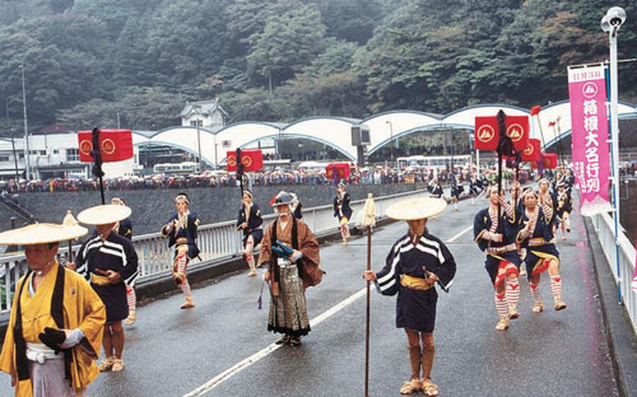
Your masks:
<path fill-rule="evenodd" d="M 631 0 L 0 0 L 0 133 L 29 122 L 160 129 L 220 96 L 237 120 L 447 113 L 566 99 L 566 66 L 603 61 L 599 20 Z M 637 64 L 620 66 L 637 98 Z"/>

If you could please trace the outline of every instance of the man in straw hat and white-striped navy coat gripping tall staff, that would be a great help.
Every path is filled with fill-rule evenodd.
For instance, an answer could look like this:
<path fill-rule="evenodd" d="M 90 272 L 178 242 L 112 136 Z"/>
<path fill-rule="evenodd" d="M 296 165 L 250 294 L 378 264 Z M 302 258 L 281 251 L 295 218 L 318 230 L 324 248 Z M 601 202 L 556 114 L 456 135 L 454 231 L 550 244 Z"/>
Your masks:
<path fill-rule="evenodd" d="M 391 247 L 382 270 L 363 273 L 365 280 L 376 283 L 381 294 L 398 294 L 396 328 L 407 333 L 412 367 L 412 377 L 402 384 L 400 394 L 419 390 L 426 396 L 438 394 L 437 385 L 431 381 L 438 296 L 435 283 L 448 291 L 456 274 L 456 261 L 442 240 L 429 233 L 426 224 L 429 217 L 445 208 L 447 202 L 440 198 L 414 198 L 387 208 L 387 217 L 407 221 L 409 231 Z"/>

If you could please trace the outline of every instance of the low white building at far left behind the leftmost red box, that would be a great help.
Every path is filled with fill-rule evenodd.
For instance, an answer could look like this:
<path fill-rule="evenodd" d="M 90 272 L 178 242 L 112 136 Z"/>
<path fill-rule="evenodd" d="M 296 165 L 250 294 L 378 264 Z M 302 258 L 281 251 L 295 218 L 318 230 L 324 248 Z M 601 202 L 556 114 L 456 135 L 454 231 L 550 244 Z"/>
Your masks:
<path fill-rule="evenodd" d="M 104 178 L 132 175 L 137 147 L 134 154 L 126 161 L 104 163 Z M 31 179 L 65 178 L 69 174 L 91 177 L 92 164 L 80 162 L 76 132 L 30 135 L 29 164 Z M 0 138 L 0 179 L 15 178 L 16 173 L 19 178 L 25 178 L 25 172 L 25 139 L 15 138 L 12 143 L 10 138 Z"/>

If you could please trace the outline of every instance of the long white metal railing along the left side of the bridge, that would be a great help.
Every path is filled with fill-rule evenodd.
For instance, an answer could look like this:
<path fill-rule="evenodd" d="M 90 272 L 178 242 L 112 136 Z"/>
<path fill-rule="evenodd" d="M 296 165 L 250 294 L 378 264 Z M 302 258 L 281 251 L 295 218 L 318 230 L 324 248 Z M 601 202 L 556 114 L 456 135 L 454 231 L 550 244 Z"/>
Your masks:
<path fill-rule="evenodd" d="M 386 208 L 404 198 L 426 194 L 426 190 L 414 190 L 374 198 L 377 214 L 384 215 Z M 362 215 L 365 200 L 351 202 L 354 214 Z M 274 219 L 274 214 L 265 215 L 264 226 Z M 332 212 L 332 205 L 321 205 L 303 210 L 303 221 L 315 234 L 320 235 L 330 230 L 337 231 L 338 224 Z M 351 219 L 353 222 L 353 219 Z M 202 261 L 230 259 L 241 254 L 242 235 L 235 227 L 236 221 L 218 222 L 206 224 L 197 230 L 197 245 L 200 247 Z M 172 270 L 172 257 L 174 251 L 169 248 L 167 242 L 160 233 L 149 233 L 134 236 L 133 245 L 139 257 L 139 281 L 148 277 L 168 277 Z M 71 248 L 75 256 L 79 245 Z M 59 247 L 59 261 L 64 263 L 69 258 L 69 247 L 65 244 Z M 10 257 L 0 258 L 0 313 L 8 312 L 11 308 L 15 282 L 27 271 L 27 263 L 24 254 L 16 254 Z"/>

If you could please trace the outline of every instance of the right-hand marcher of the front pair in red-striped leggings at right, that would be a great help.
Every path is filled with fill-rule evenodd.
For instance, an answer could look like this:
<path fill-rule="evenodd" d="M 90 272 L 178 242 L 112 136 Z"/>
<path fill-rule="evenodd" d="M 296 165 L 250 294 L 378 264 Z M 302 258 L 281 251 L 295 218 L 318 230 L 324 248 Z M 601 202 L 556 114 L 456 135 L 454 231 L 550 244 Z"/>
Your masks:
<path fill-rule="evenodd" d="M 526 250 L 526 273 L 528 273 L 528 285 L 533 295 L 533 312 L 539 313 L 544 309 L 540 296 L 540 275 L 548 270 L 551 279 L 551 291 L 553 293 L 555 310 L 566 309 L 566 303 L 562 301 L 562 277 L 559 273 L 559 252 L 554 244 L 553 228 L 549 224 L 552 218 L 553 208 L 548 201 L 539 201 L 538 194 L 533 189 L 526 189 L 524 198 L 524 215 L 522 223 L 524 228 L 517 234 L 517 242 Z M 539 204 L 539 205 L 538 205 Z"/>

